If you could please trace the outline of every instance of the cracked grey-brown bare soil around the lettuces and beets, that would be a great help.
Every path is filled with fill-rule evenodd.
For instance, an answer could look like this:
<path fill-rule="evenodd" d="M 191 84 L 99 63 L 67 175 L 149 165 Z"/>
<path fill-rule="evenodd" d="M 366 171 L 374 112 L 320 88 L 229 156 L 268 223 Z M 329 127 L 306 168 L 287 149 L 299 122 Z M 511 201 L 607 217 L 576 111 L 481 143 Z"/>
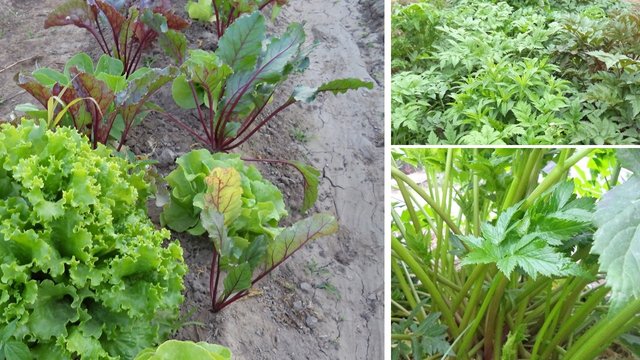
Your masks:
<path fill-rule="evenodd" d="M 98 55 L 87 33 L 73 27 L 44 30 L 61 0 L 0 0 L 0 119 L 15 105 L 34 102 L 13 81 L 18 71 L 62 69 L 76 52 Z M 183 12 L 182 1 L 176 11 Z M 174 234 L 190 272 L 185 278 L 184 321 L 176 338 L 228 346 L 236 359 L 381 359 L 383 357 L 383 1 L 292 0 L 272 26 L 305 22 L 308 41 L 319 45 L 311 67 L 289 82 L 320 84 L 338 77 L 373 81 L 373 90 L 322 96 L 296 105 L 263 129 L 241 151 L 247 157 L 296 159 L 323 174 L 312 211 L 329 211 L 340 222 L 336 236 L 298 252 L 258 284 L 253 295 L 221 313 L 209 310 L 211 245 L 204 238 Z M 209 29 L 194 24 L 192 47 L 211 48 Z M 162 66 L 157 53 L 147 58 Z M 168 88 L 156 102 L 172 105 Z M 195 125 L 195 122 L 194 122 Z M 166 174 L 177 156 L 198 147 L 171 123 L 149 117 L 129 140 L 137 154 L 158 161 Z M 285 194 L 292 219 L 300 217 L 300 177 L 290 169 L 260 165 Z M 157 221 L 159 209 L 150 207 Z"/>

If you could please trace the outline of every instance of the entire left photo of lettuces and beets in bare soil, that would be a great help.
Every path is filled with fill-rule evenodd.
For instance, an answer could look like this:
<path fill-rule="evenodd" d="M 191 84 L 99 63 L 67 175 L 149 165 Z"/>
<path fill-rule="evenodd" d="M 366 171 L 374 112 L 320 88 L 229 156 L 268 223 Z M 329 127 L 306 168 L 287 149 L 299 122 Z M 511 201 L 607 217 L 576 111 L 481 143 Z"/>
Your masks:
<path fill-rule="evenodd" d="M 382 9 L 0 1 L 0 360 L 381 357 Z"/>

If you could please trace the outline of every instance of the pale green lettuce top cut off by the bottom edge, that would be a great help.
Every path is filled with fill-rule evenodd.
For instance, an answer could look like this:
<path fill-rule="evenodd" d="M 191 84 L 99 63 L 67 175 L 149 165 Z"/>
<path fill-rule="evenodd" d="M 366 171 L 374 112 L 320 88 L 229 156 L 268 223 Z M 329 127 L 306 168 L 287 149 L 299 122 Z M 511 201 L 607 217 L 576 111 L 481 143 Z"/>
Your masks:
<path fill-rule="evenodd" d="M 143 350 L 134 360 L 231 360 L 231 351 L 224 346 L 206 342 L 168 340 L 157 348 Z"/>

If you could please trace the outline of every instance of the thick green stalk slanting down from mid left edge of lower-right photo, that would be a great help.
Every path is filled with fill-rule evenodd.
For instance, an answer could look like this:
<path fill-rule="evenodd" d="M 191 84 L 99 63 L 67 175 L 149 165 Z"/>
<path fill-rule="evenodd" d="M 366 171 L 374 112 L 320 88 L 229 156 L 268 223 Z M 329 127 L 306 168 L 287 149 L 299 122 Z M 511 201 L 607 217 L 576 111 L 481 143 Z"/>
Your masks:
<path fill-rule="evenodd" d="M 434 305 L 442 313 L 444 322 L 449 327 L 449 332 L 453 337 L 456 337 L 458 334 L 458 326 L 453 320 L 451 309 L 440 294 L 440 291 L 438 291 L 436 285 L 429 278 L 429 275 L 427 275 L 422 266 L 416 261 L 416 259 L 413 258 L 409 250 L 407 250 L 398 239 L 391 239 L 391 249 L 396 253 L 398 258 L 400 258 L 402 261 L 404 261 L 405 264 L 407 264 L 407 266 L 409 266 L 413 274 L 427 289 L 427 292 L 431 295 L 431 299 L 433 300 Z"/>

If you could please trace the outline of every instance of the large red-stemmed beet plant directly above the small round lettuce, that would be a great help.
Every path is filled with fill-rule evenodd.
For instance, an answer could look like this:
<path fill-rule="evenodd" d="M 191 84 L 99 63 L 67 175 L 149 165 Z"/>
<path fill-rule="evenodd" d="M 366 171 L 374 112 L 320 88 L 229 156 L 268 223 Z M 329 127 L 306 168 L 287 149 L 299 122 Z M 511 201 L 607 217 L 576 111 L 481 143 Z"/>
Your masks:
<path fill-rule="evenodd" d="M 173 99 L 181 108 L 196 110 L 202 131 L 171 114 L 164 115 L 209 150 L 227 152 L 293 104 L 311 102 L 323 92 L 373 87 L 358 79 L 334 80 L 315 88 L 298 86 L 275 109 L 267 110 L 289 75 L 307 69 L 305 37 L 300 24 L 290 25 L 280 37 L 267 37 L 265 18 L 257 11 L 235 21 L 215 52 L 187 52 L 184 36 L 169 32 L 163 46 L 181 64 L 181 74 L 172 85 Z"/>

